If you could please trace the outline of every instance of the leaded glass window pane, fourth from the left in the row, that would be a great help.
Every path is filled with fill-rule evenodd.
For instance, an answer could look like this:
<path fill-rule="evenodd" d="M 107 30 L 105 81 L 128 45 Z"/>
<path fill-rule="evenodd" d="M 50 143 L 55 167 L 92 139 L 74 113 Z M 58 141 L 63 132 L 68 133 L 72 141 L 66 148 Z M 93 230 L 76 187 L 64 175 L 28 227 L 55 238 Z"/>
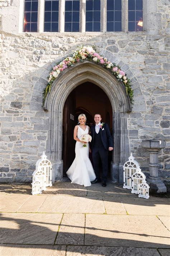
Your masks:
<path fill-rule="evenodd" d="M 86 0 L 86 31 L 100 31 L 100 0 Z"/>

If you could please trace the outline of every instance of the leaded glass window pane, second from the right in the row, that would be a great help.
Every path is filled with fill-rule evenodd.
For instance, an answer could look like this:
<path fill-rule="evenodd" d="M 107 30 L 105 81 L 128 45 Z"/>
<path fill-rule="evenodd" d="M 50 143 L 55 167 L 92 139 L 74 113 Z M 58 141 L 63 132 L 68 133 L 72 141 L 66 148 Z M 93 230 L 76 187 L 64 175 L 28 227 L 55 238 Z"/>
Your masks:
<path fill-rule="evenodd" d="M 122 31 L 121 0 L 107 0 L 107 31 Z"/>

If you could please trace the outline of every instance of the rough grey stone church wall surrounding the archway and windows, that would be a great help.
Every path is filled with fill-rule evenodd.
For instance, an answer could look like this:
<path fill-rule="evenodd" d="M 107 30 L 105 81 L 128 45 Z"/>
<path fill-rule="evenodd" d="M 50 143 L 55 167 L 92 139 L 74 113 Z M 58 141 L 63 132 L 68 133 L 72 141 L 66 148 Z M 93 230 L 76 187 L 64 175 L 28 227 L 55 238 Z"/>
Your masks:
<path fill-rule="evenodd" d="M 0 182 L 30 182 L 35 163 L 46 151 L 48 112 L 42 108 L 42 91 L 50 63 L 67 55 L 77 45 L 95 44 L 114 53 L 132 71 L 134 102 L 128 118 L 130 152 L 143 170 L 148 153 L 143 139 L 162 139 L 166 148 L 159 154 L 160 175 L 168 180 L 170 169 L 169 107 L 169 14 L 168 1 L 150 1 L 149 27 L 144 32 L 115 33 L 17 33 L 19 1 L 2 1 L 1 8 L 1 96 Z M 154 5 L 153 5 L 153 3 Z M 156 5 L 157 3 L 157 5 Z M 8 20 L 15 14 L 14 21 Z M 5 20 L 6 19 L 6 20 Z M 11 22 L 11 28 L 10 28 Z M 11 31 L 10 31 L 11 29 Z M 129 74 L 129 77 L 132 77 Z M 34 90 L 34 85 L 39 88 Z M 37 87 L 36 87 L 37 88 Z M 30 109 L 30 101 L 35 108 Z"/>

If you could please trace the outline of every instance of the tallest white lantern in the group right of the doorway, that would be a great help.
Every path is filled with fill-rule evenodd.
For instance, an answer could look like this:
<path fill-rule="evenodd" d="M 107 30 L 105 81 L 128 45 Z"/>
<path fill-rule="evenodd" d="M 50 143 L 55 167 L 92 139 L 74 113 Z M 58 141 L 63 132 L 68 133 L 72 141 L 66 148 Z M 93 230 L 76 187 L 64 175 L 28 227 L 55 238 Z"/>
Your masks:
<path fill-rule="evenodd" d="M 124 189 L 132 189 L 132 175 L 136 172 L 137 168 L 140 167 L 140 164 L 136 160 L 131 153 L 129 156 L 129 160 L 123 165 L 123 188 Z"/>

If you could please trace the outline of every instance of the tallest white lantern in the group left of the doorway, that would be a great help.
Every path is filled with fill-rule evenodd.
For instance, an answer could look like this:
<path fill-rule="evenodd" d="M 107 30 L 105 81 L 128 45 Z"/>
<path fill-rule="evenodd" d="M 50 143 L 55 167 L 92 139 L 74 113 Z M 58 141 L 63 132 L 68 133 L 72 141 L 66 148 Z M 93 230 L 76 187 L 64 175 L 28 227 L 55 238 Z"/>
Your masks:
<path fill-rule="evenodd" d="M 46 175 L 46 187 L 52 186 L 52 164 L 47 159 L 47 156 L 43 152 L 41 159 L 39 159 L 36 163 L 36 169 L 44 171 Z"/>

